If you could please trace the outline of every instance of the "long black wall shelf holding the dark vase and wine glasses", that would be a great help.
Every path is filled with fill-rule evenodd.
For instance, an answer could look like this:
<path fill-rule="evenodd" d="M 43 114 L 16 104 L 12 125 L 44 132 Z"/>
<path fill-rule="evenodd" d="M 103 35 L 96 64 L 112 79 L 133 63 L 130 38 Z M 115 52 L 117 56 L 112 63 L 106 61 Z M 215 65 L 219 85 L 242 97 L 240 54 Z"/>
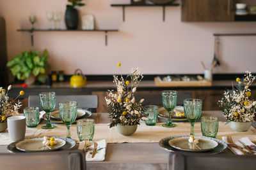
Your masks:
<path fill-rule="evenodd" d="M 105 45 L 108 45 L 108 32 L 114 32 L 118 31 L 117 29 L 95 29 L 95 30 L 82 30 L 82 29 L 76 29 L 76 30 L 68 30 L 68 29 L 17 29 L 17 31 L 22 31 L 22 32 L 30 32 L 31 36 L 31 46 L 34 45 L 34 32 L 47 32 L 47 31 L 52 31 L 52 32 L 57 32 L 57 31 L 83 31 L 83 32 L 105 32 Z"/>

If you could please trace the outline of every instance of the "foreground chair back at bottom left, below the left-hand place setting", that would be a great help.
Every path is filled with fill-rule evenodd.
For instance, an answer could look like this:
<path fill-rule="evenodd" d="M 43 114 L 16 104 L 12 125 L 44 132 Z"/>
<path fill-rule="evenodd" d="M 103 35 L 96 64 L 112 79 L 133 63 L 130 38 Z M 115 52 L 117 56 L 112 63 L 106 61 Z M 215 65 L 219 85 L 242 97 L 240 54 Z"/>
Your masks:
<path fill-rule="evenodd" d="M 86 162 L 82 150 L 37 153 L 0 153 L 4 170 L 84 170 Z"/>

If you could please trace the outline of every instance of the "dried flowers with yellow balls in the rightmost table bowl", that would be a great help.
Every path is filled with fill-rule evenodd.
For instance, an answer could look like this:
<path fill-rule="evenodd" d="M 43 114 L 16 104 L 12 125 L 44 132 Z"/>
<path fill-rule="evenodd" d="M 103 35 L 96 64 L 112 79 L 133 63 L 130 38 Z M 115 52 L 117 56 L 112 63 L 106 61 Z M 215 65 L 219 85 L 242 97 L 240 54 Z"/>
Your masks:
<path fill-rule="evenodd" d="M 255 78 L 249 71 L 246 71 L 244 78 L 236 79 L 236 87 L 233 87 L 232 90 L 225 90 L 223 97 L 218 101 L 218 105 L 226 120 L 255 122 L 256 101 L 250 99 L 251 90 L 249 89 Z"/>

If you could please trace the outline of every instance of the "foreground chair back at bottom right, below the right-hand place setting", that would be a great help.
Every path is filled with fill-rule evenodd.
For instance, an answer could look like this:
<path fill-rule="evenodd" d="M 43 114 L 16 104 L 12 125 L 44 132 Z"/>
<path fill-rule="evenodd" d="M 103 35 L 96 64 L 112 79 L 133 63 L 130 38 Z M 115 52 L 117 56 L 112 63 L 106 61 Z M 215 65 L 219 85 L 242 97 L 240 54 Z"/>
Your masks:
<path fill-rule="evenodd" d="M 172 170 L 254 170 L 256 155 L 211 155 L 209 153 L 170 153 L 168 169 Z"/>

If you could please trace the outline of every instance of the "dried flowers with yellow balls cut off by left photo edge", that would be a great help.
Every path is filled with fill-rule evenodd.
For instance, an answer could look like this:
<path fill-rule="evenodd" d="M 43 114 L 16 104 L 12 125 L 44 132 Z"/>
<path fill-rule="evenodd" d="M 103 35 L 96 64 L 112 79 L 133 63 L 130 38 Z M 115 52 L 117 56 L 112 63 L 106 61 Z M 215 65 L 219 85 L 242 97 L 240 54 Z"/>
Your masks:
<path fill-rule="evenodd" d="M 0 123 L 6 122 L 6 118 L 8 117 L 19 115 L 19 109 L 22 106 L 22 103 L 19 100 L 17 102 L 15 101 L 19 96 L 24 95 L 24 91 L 21 90 L 19 96 L 15 99 L 10 99 L 8 97 L 8 92 L 11 89 L 12 85 L 8 86 L 7 92 L 3 87 L 0 87 Z"/>

